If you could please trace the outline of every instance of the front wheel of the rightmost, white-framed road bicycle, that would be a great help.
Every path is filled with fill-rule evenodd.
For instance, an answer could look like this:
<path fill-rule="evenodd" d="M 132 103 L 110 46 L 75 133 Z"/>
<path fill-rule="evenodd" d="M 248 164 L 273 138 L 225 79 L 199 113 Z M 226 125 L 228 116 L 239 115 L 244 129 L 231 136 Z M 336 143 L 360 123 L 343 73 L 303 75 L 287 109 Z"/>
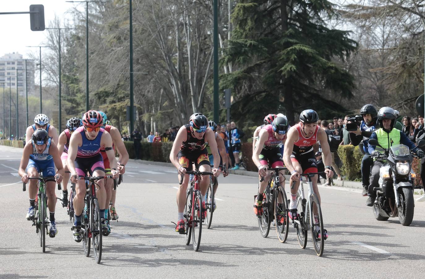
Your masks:
<path fill-rule="evenodd" d="M 314 211 L 316 211 L 316 213 L 314 213 Z M 315 221 L 314 216 L 317 217 L 317 222 Z M 310 196 L 310 224 L 314 250 L 316 251 L 317 256 L 321 257 L 325 246 L 323 219 L 319 199 L 314 193 Z"/>

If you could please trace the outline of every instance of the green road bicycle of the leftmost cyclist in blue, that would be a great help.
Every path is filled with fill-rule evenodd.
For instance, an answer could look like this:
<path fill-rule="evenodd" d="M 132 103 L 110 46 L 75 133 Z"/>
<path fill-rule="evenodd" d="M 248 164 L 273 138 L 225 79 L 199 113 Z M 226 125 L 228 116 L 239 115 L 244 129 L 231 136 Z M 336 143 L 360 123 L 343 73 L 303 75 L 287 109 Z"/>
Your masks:
<path fill-rule="evenodd" d="M 42 170 L 40 170 L 42 173 Z M 36 233 L 40 236 L 40 247 L 43 253 L 46 251 L 46 235 L 49 235 L 48 224 L 50 224 L 47 217 L 47 196 L 45 179 L 40 174 L 40 177 L 28 177 L 28 179 L 39 180 L 38 194 L 35 197 L 35 212 L 32 219 L 32 225 L 35 226 Z M 57 185 L 58 190 L 61 190 L 60 184 Z M 22 191 L 26 191 L 26 183 L 23 183 Z M 53 237 L 53 236 L 52 236 Z"/>

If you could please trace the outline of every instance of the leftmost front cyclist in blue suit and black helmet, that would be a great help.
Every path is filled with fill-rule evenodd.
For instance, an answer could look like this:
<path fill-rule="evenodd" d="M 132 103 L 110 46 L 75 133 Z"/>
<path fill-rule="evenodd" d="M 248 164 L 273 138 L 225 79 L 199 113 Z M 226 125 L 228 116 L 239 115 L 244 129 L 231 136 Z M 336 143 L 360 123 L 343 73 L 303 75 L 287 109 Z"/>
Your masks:
<path fill-rule="evenodd" d="M 57 171 L 55 174 L 54 167 Z M 36 129 L 32 134 L 30 142 L 27 142 L 19 165 L 19 175 L 22 182 L 28 183 L 28 177 L 39 177 L 42 171 L 46 185 L 47 206 L 50 212 L 50 229 L 49 236 L 55 237 L 57 234 L 56 223 L 54 219 L 56 195 L 54 188 L 56 183 L 62 181 L 63 167 L 60 161 L 59 151 L 56 144 L 49 138 L 47 131 L 44 129 Z M 26 215 L 27 220 L 34 219 L 35 198 L 37 196 L 37 180 L 29 180 L 29 208 Z"/>

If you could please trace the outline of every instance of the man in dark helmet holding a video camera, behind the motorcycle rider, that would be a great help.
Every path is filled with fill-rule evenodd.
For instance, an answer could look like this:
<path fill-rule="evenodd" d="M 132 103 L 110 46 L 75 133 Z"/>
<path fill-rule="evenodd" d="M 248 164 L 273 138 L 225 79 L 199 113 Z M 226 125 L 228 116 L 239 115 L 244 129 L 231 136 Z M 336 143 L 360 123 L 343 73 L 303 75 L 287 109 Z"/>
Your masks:
<path fill-rule="evenodd" d="M 363 120 L 360 122 L 360 128 L 357 127 L 357 131 L 350 131 L 350 140 L 354 146 L 359 145 L 359 143 L 363 140 L 363 151 L 365 151 L 361 166 L 363 196 L 368 195 L 369 175 L 373 164 L 373 160 L 369 158 L 368 141 L 373 131 L 380 128 L 379 123 L 377 122 L 377 114 L 378 113 L 374 105 L 363 105 L 363 108 L 360 109 L 360 115 L 363 117 Z M 348 123 L 350 123 L 350 121 L 348 121 Z"/>

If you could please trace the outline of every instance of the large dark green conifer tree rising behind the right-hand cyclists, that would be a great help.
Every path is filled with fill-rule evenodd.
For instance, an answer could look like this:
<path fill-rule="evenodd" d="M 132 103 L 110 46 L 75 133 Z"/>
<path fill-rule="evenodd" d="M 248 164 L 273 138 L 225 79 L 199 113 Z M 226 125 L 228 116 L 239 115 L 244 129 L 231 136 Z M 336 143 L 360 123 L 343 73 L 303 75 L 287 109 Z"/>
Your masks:
<path fill-rule="evenodd" d="M 334 16 L 326 0 L 241 0 L 222 60 L 238 69 L 224 75 L 221 88 L 235 88 L 238 100 L 255 100 L 261 117 L 283 110 L 293 122 L 296 112 L 320 112 L 323 104 L 345 111 L 336 102 L 329 107 L 322 97 L 330 91 L 350 98 L 354 89 L 354 79 L 342 65 L 357 43 L 348 31 L 326 26 L 325 20 Z"/>

